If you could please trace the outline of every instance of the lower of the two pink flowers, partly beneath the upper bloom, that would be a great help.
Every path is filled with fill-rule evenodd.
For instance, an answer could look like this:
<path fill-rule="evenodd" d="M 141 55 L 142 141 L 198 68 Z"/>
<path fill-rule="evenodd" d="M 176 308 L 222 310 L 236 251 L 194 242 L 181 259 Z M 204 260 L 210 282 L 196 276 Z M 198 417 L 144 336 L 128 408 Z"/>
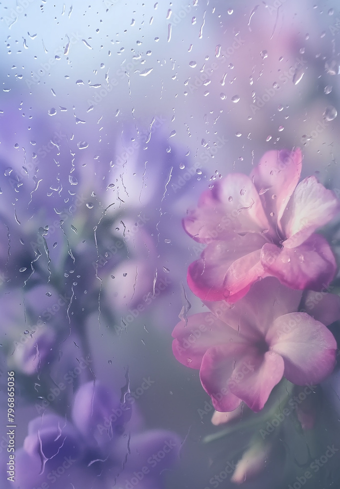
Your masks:
<path fill-rule="evenodd" d="M 305 312 L 292 312 L 301 295 L 268 278 L 254 284 L 236 304 L 205 303 L 212 312 L 177 324 L 174 355 L 183 365 L 200 370 L 217 411 L 233 411 L 243 400 L 257 412 L 283 376 L 306 385 L 331 374 L 336 340 L 321 322 Z M 335 301 L 334 308 L 338 306 Z"/>

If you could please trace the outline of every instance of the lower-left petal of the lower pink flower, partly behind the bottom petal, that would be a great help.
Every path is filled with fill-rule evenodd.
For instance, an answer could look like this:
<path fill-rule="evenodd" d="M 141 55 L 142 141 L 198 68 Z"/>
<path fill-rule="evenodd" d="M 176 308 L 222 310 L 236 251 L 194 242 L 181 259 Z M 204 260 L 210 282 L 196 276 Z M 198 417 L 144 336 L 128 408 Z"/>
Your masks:
<path fill-rule="evenodd" d="M 242 358 L 248 349 L 247 344 L 229 342 L 209 348 L 205 353 L 200 378 L 217 411 L 234 411 L 240 404 L 241 400 L 230 392 L 228 383 L 235 361 Z"/>

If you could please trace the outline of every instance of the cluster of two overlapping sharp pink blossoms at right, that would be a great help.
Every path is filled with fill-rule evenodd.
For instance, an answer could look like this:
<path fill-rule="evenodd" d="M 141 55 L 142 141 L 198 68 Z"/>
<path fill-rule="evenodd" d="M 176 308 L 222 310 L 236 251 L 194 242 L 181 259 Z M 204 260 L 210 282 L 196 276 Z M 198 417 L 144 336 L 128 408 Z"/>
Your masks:
<path fill-rule="evenodd" d="M 314 385 L 335 367 L 337 343 L 327 326 L 340 318 L 340 299 L 322 293 L 334 279 L 333 252 L 317 228 L 340 202 L 315 177 L 299 182 L 301 151 L 270 151 L 250 176 L 230 174 L 203 193 L 183 221 L 206 244 L 188 269 L 190 289 L 210 312 L 174 329 L 173 352 L 199 369 L 215 409 L 244 401 L 257 412 L 285 377 Z M 297 312 L 298 311 L 298 312 Z"/>

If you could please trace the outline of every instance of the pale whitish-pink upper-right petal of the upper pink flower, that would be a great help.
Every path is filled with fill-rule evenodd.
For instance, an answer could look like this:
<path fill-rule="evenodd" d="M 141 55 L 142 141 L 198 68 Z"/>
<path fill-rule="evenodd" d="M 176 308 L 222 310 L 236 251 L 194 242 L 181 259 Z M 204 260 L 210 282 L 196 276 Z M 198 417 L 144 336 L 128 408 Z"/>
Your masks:
<path fill-rule="evenodd" d="M 299 246 L 339 211 L 340 201 L 331 190 L 315 177 L 305 178 L 295 188 L 281 220 L 288 238 L 283 245 L 288 248 Z"/>

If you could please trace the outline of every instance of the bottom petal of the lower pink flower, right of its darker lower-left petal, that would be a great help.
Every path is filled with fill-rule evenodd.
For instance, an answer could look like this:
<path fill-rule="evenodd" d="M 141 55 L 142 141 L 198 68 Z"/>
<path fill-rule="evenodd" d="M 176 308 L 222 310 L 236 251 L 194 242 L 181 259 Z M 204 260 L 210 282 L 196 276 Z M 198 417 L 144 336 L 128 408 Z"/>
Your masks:
<path fill-rule="evenodd" d="M 235 363 L 229 388 L 235 396 L 244 400 L 255 411 L 260 411 L 267 402 L 273 387 L 283 377 L 284 363 L 274 352 L 249 353 Z"/>

